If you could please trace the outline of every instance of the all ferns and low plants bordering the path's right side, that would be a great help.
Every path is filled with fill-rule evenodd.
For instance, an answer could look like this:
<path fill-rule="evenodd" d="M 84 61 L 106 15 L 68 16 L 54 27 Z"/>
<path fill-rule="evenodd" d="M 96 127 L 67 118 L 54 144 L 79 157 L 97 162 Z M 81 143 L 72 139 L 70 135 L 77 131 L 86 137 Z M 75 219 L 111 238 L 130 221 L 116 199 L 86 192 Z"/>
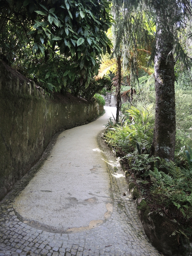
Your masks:
<path fill-rule="evenodd" d="M 120 122 L 111 117 L 105 140 L 120 157 L 130 175 L 141 179 L 141 197 L 151 211 L 161 211 L 192 237 L 192 93 L 176 85 L 175 162 L 150 155 L 155 122 L 154 80 L 140 88 L 130 104 L 122 104 Z M 164 170 L 164 171 L 162 171 Z M 165 171 L 166 170 L 166 171 Z M 184 230 L 184 231 L 182 231 Z"/>

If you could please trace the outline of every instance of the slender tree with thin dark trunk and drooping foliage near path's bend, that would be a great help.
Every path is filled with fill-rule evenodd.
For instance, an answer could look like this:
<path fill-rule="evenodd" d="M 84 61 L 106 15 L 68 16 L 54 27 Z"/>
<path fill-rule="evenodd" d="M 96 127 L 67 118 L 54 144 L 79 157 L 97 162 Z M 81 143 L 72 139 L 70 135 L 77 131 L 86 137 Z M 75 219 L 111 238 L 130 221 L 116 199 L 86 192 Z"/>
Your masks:
<path fill-rule="evenodd" d="M 138 81 L 138 49 L 148 47 L 149 40 L 153 35 L 149 33 L 144 22 L 145 15 L 142 10 L 138 11 L 138 6 L 134 6 L 130 1 L 112 0 L 113 2 L 113 54 L 117 60 L 118 90 L 117 90 L 117 113 L 116 121 L 119 121 L 119 111 L 121 107 L 121 70 L 130 77 L 131 88 Z M 141 26 L 142 23 L 142 26 Z M 121 60 L 121 61 L 120 61 Z M 122 63 L 122 64 L 121 64 Z M 122 67 L 121 67 L 122 65 Z M 129 74 L 126 74 L 129 70 Z M 133 89 L 132 89 L 133 90 Z"/>

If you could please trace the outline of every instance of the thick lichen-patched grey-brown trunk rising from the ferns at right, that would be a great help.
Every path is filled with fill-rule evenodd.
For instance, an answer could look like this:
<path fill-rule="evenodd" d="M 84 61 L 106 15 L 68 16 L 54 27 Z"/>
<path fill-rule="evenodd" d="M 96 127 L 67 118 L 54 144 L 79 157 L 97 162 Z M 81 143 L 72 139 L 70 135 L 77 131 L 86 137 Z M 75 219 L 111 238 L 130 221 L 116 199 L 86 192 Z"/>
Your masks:
<path fill-rule="evenodd" d="M 173 26 L 158 14 L 155 55 L 155 129 L 151 155 L 174 161 L 176 112 L 173 58 Z"/>

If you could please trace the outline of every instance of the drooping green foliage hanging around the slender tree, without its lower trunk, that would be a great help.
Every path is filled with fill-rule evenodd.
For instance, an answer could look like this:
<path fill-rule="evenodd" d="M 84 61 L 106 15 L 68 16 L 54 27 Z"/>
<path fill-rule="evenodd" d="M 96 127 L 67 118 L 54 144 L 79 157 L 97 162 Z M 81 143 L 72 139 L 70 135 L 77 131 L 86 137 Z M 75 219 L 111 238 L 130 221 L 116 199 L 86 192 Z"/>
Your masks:
<path fill-rule="evenodd" d="M 129 85 L 134 87 L 138 80 L 138 67 L 146 67 L 149 60 L 148 49 L 154 41 L 154 25 L 147 22 L 148 13 L 144 13 L 140 1 L 137 1 L 137 7 L 127 1 L 113 0 L 112 3 L 115 19 L 112 26 L 113 57 L 122 58 L 122 71 L 129 74 Z"/>

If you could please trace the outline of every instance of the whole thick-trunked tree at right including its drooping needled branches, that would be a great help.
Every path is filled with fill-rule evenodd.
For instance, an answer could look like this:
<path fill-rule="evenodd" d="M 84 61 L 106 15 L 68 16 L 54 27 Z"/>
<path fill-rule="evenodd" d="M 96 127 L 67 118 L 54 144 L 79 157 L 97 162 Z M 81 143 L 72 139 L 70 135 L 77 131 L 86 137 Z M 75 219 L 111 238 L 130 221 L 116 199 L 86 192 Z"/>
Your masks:
<path fill-rule="evenodd" d="M 184 56 L 177 32 L 183 28 L 187 12 L 191 14 L 191 0 L 114 0 L 114 5 L 120 5 L 128 10 L 129 15 L 131 15 L 131 10 L 137 10 L 140 14 L 144 12 L 145 20 L 137 19 L 138 22 L 135 23 L 137 29 L 140 27 L 137 37 L 133 36 L 135 31 L 128 26 L 129 33 L 131 28 L 131 37 L 128 35 L 127 42 L 123 42 L 125 46 L 130 44 L 130 41 L 132 44 L 137 44 L 135 38 L 141 41 L 145 38 L 147 34 L 145 30 L 142 30 L 142 26 L 146 23 L 147 17 L 150 17 L 148 29 L 152 23 L 156 24 L 156 45 L 154 45 L 151 56 L 155 62 L 156 90 L 155 129 L 151 153 L 167 161 L 173 160 L 176 134 L 174 56 L 176 59 Z M 133 24 L 134 18 L 132 17 L 134 16 L 131 16 L 131 23 L 129 19 L 127 20 L 128 25 Z M 128 51 L 125 53 L 128 54 Z"/>

